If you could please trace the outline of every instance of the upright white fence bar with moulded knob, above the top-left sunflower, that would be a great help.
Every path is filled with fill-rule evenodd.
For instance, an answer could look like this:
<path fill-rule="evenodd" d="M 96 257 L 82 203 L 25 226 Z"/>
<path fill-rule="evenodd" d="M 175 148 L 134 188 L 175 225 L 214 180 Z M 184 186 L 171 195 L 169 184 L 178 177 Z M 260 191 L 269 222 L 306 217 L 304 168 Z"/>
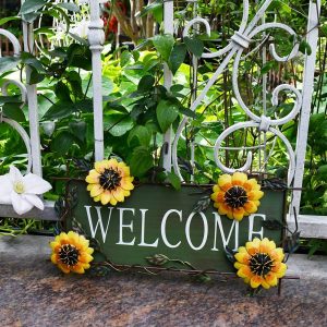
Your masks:
<path fill-rule="evenodd" d="M 93 108 L 94 108 L 94 143 L 95 160 L 104 159 L 104 108 L 102 108 L 102 62 L 101 51 L 105 43 L 104 22 L 100 19 L 99 0 L 89 0 L 90 23 L 88 43 L 92 51 L 93 70 Z"/>

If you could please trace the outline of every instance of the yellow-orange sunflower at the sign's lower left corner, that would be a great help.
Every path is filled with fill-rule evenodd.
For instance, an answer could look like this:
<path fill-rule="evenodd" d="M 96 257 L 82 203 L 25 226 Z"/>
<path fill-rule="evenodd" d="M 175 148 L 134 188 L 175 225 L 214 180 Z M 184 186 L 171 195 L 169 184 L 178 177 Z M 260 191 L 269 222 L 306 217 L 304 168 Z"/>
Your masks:
<path fill-rule="evenodd" d="M 52 249 L 51 262 L 65 274 L 70 271 L 84 274 L 93 261 L 94 250 L 83 235 L 73 231 L 60 233 L 50 242 Z"/>

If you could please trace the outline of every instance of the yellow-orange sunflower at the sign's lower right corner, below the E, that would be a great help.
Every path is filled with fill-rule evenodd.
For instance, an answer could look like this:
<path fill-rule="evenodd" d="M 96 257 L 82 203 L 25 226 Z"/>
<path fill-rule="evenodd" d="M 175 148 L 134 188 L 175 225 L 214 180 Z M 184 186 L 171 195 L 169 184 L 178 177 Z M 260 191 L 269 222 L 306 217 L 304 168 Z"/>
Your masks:
<path fill-rule="evenodd" d="M 287 265 L 282 263 L 283 250 L 276 247 L 275 242 L 267 238 L 256 238 L 245 246 L 240 246 L 234 257 L 238 276 L 254 289 L 259 286 L 265 289 L 277 286 L 278 279 L 282 278 L 287 270 Z"/>

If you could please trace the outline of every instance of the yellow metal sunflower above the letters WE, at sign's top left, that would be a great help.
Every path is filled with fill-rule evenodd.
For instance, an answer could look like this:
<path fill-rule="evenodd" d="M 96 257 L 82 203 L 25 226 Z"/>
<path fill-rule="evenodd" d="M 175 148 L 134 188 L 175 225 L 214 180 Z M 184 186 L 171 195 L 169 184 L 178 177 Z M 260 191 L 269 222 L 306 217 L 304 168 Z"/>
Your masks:
<path fill-rule="evenodd" d="M 95 202 L 102 205 L 110 203 L 116 206 L 118 202 L 124 202 L 131 195 L 134 178 L 130 174 L 130 168 L 124 162 L 116 159 L 95 162 L 95 169 L 86 177 L 87 191 Z"/>

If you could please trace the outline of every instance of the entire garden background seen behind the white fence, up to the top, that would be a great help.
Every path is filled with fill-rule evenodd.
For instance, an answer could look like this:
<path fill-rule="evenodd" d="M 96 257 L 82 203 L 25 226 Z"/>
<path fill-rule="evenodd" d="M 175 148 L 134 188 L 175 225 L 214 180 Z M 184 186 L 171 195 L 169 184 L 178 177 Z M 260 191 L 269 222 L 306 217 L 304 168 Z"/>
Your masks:
<path fill-rule="evenodd" d="M 21 37 L 19 1 L 2 0 L 0 27 Z M 87 5 L 72 2 L 53 3 L 34 1 L 35 56 L 23 52 L 17 60 L 10 60 L 10 45 L 1 38 L 0 83 L 8 77 L 23 78 L 24 66 L 32 70 L 29 84 L 37 83 L 43 147 L 44 178 L 51 181 L 53 190 L 45 195 L 56 201 L 64 191 L 63 177 L 86 174 L 94 161 L 94 126 L 92 101 L 92 60 L 87 43 Z M 80 1 L 81 2 L 81 1 Z M 37 5 L 39 4 L 39 5 Z M 46 4 L 46 7 L 44 7 Z M 253 16 L 259 1 L 251 1 Z M 267 57 L 263 63 L 259 52 L 250 53 L 240 66 L 242 96 L 259 112 L 262 81 L 268 80 L 268 90 L 282 83 L 301 88 L 304 55 L 311 49 L 305 43 L 308 1 L 274 1 L 267 11 L 267 21 L 278 21 L 298 32 L 303 57 L 288 63 L 277 63 Z M 172 124 L 175 130 L 182 114 L 192 119 L 184 142 L 179 144 L 179 164 L 189 182 L 216 182 L 220 171 L 214 160 L 213 145 L 219 134 L 235 122 L 246 120 L 245 113 L 234 100 L 229 66 L 209 90 L 204 104 L 191 112 L 194 95 L 213 75 L 220 59 L 199 59 L 205 49 L 222 48 L 238 29 L 242 16 L 242 1 L 174 1 L 174 38 L 162 32 L 162 1 L 112 1 L 102 7 L 106 44 L 102 51 L 102 92 L 106 157 L 123 158 L 132 174 L 141 181 L 160 182 L 167 179 L 162 168 L 164 134 Z M 322 1 L 322 17 L 315 88 L 307 142 L 305 175 L 301 201 L 301 214 L 327 216 L 327 24 L 326 1 Z M 194 14 L 205 17 L 211 35 L 198 28 L 192 37 L 182 37 L 185 22 Z M 279 53 L 289 53 L 294 39 L 283 32 L 274 31 L 259 45 L 262 50 L 275 40 Z M 197 69 L 194 70 L 194 60 Z M 173 86 L 162 86 L 162 65 L 167 63 L 173 73 Z M 268 102 L 269 97 L 268 96 Z M 2 111 L 28 130 L 27 108 L 21 110 L 20 90 L 11 86 L 9 94 L 0 96 Z M 167 110 L 167 108 L 169 108 Z M 268 107 L 271 116 L 283 117 L 292 109 L 292 102 Z M 296 142 L 298 120 L 283 125 L 282 133 L 292 145 Z M 235 133 L 226 146 L 254 146 L 257 132 Z M 201 146 L 199 146 L 201 145 Z M 14 150 L 13 150 L 14 149 Z M 14 164 L 21 170 L 26 167 L 25 145 L 21 136 L 9 125 L 0 129 L 0 174 Z M 287 175 L 288 156 L 282 143 L 267 140 L 269 162 L 254 160 L 252 172 L 264 169 L 269 175 L 283 179 Z M 196 158 L 193 160 L 193 156 Z M 241 167 L 246 153 L 226 150 L 227 166 Z M 168 174 L 179 187 L 178 178 Z M 0 219 L 0 233 L 52 233 L 56 225 L 27 219 Z M 310 253 L 327 252 L 327 243 L 303 240 Z"/>

